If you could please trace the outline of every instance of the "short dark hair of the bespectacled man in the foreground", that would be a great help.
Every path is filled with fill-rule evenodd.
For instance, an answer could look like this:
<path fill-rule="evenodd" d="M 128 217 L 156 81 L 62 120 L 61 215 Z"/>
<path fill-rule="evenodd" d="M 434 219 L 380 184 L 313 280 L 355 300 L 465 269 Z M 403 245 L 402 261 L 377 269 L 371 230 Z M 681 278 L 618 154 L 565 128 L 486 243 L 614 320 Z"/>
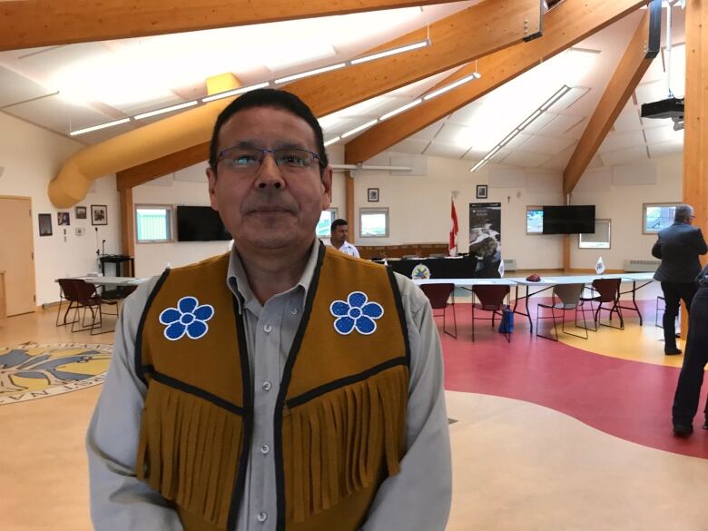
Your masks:
<path fill-rule="evenodd" d="M 317 143 L 317 152 L 320 155 L 322 167 L 327 166 L 327 152 L 324 147 L 322 128 L 317 118 L 315 118 L 315 115 L 310 110 L 310 107 L 293 93 L 277 89 L 257 89 L 244 93 L 233 100 L 221 111 L 219 117 L 216 119 L 214 130 L 211 133 L 211 143 L 209 144 L 209 165 L 212 170 L 216 171 L 216 164 L 219 162 L 217 161 L 217 157 L 219 156 L 219 132 L 221 131 L 221 126 L 235 113 L 256 107 L 281 109 L 288 113 L 295 114 L 295 116 L 307 122 L 315 133 L 315 143 Z"/>

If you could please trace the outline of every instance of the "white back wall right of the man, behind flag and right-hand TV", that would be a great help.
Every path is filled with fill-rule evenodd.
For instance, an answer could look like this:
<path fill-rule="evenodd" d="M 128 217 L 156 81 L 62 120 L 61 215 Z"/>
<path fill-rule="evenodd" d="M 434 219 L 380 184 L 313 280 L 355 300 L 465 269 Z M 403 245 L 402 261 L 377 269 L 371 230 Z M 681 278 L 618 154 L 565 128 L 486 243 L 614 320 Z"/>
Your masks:
<path fill-rule="evenodd" d="M 393 160 L 394 156 L 391 154 L 388 160 Z M 379 156 L 368 163 L 386 162 L 386 156 Z M 468 161 L 428 157 L 427 171 L 416 177 L 392 176 L 389 172 L 359 172 L 354 179 L 355 244 L 447 241 L 450 196 L 453 191 L 458 191 L 455 203 L 461 250 L 464 251 L 468 244 L 469 203 L 501 202 L 503 256 L 516 259 L 520 269 L 561 268 L 563 236 L 526 234 L 527 205 L 565 204 L 561 172 L 487 165 L 479 172 L 470 173 L 470 166 Z M 477 184 L 489 186 L 487 200 L 475 198 Z M 379 188 L 379 202 L 367 201 L 368 188 Z M 655 236 L 642 234 L 642 203 L 679 202 L 681 197 L 680 153 L 643 165 L 585 172 L 572 196 L 572 204 L 595 204 L 598 219 L 612 219 L 612 248 L 602 250 L 602 253 L 580 250 L 577 236 L 572 236 L 571 266 L 592 269 L 600 254 L 608 269 L 623 269 L 624 259 L 651 260 Z M 360 207 L 388 207 L 388 238 L 359 236 Z"/>

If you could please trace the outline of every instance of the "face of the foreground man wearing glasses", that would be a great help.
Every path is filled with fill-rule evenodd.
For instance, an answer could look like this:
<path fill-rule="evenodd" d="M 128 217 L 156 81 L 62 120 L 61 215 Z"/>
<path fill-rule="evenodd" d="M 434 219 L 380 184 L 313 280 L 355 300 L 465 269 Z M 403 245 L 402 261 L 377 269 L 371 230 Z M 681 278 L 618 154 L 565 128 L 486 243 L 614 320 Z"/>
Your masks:
<path fill-rule="evenodd" d="M 261 149 L 300 148 L 317 152 L 310 125 L 280 109 L 256 107 L 235 113 L 222 125 L 219 150 L 235 145 Z M 211 208 L 231 232 L 239 251 L 307 249 L 320 212 L 329 208 L 331 170 L 318 164 L 297 174 L 280 171 L 271 153 L 252 173 L 218 162 L 207 169 Z"/>

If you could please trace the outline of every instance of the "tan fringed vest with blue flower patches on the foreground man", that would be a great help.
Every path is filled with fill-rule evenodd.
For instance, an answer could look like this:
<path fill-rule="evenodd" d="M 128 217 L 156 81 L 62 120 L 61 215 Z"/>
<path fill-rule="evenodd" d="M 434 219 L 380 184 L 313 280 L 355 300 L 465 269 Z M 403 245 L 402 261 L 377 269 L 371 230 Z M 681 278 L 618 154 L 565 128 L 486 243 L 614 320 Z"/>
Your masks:
<path fill-rule="evenodd" d="M 167 270 L 136 340 L 137 475 L 186 531 L 235 529 L 252 389 L 229 255 Z M 406 448 L 408 335 L 393 274 L 320 244 L 275 411 L 279 530 L 359 529 Z"/>

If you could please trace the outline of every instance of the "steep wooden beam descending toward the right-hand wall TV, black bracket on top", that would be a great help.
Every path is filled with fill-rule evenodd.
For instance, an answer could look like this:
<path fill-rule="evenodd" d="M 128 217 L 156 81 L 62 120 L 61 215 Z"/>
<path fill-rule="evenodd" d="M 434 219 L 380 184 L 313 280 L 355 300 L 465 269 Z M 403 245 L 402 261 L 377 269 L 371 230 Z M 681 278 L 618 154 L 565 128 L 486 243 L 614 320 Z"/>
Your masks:
<path fill-rule="evenodd" d="M 563 172 L 563 192 L 572 193 L 580 181 L 587 165 L 592 161 L 600 144 L 612 128 L 613 123 L 624 109 L 636 85 L 644 77 L 652 60 L 659 53 L 662 2 L 652 0 L 646 13 L 639 22 L 634 36 L 620 59 L 612 79 L 607 84 L 595 113 L 585 127 L 585 132 L 575 146 Z"/>

